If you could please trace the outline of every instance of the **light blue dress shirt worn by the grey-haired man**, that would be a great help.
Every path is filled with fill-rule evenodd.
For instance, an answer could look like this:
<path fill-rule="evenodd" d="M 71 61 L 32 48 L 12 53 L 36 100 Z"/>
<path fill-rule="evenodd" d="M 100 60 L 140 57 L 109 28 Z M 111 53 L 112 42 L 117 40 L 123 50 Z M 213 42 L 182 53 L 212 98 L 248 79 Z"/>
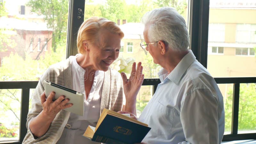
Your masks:
<path fill-rule="evenodd" d="M 223 97 L 214 78 L 190 50 L 161 83 L 139 121 L 151 130 L 148 144 L 220 144 L 224 133 Z"/>

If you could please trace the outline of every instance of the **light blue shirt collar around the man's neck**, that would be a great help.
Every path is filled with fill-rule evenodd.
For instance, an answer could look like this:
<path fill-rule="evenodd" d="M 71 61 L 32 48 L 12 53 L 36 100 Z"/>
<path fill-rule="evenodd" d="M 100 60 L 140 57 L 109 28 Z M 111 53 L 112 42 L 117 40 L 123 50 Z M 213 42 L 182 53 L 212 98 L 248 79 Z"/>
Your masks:
<path fill-rule="evenodd" d="M 188 67 L 196 60 L 194 53 L 189 50 L 188 54 L 186 54 L 178 63 L 178 65 L 172 70 L 170 74 L 168 74 L 167 70 L 162 68 L 158 72 L 158 76 L 161 82 L 166 80 L 171 80 L 175 84 L 178 84 L 182 75 L 188 69 Z"/>

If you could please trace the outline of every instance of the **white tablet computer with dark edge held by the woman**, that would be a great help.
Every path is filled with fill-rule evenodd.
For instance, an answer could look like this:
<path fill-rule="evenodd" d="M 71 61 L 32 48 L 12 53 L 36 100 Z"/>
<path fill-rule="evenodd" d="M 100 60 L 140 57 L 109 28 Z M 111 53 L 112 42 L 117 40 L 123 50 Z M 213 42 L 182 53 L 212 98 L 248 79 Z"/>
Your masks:
<path fill-rule="evenodd" d="M 70 111 L 74 114 L 84 116 L 84 94 L 76 92 L 64 86 L 54 84 L 52 82 L 44 81 L 45 84 L 45 95 L 49 96 L 51 92 L 55 92 L 53 100 L 56 100 L 61 95 L 64 95 L 65 98 L 69 99 L 68 103 L 72 103 L 73 106 L 70 108 L 65 108 L 64 110 Z"/>

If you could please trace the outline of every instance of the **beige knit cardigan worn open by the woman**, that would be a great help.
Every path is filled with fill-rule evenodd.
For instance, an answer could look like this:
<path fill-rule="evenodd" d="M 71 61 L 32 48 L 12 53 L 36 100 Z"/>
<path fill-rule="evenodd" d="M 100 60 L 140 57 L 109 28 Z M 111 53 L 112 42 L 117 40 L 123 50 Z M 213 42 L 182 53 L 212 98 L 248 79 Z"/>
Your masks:
<path fill-rule="evenodd" d="M 71 59 L 61 61 L 50 66 L 40 78 L 36 90 L 32 95 L 32 106 L 28 112 L 27 129 L 28 132 L 22 143 L 55 144 L 59 139 L 68 122 L 70 112 L 61 110 L 52 121 L 48 131 L 40 138 L 35 138 L 29 130 L 29 123 L 42 110 L 40 95 L 44 92 L 44 80 L 72 88 Z M 104 73 L 103 88 L 100 103 L 100 114 L 104 108 L 120 111 L 123 108 L 123 82 L 121 75 L 109 68 Z"/>

